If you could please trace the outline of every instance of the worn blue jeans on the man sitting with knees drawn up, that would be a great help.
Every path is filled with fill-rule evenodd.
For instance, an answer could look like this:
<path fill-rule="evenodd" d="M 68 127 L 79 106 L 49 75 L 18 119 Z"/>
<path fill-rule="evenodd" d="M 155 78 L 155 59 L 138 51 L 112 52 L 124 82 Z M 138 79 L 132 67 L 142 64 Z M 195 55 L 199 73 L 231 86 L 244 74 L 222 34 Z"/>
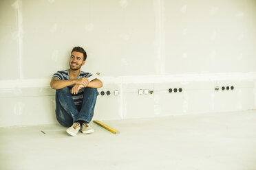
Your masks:
<path fill-rule="evenodd" d="M 70 127 L 75 121 L 81 120 L 90 123 L 94 116 L 94 107 L 98 95 L 97 88 L 86 87 L 83 93 L 81 109 L 76 108 L 69 88 L 56 90 L 56 118 L 58 123 Z"/>

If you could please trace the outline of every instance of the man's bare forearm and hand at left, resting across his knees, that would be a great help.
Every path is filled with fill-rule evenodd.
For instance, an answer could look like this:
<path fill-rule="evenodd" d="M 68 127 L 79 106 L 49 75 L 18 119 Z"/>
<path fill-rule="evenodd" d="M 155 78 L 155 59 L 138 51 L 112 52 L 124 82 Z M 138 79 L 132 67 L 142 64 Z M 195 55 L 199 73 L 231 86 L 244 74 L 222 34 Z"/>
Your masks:
<path fill-rule="evenodd" d="M 83 86 L 86 87 L 89 84 L 89 80 L 85 77 L 77 80 L 58 80 L 57 78 L 53 78 L 50 83 L 51 88 L 55 90 L 72 86 L 74 84 L 83 84 Z"/>

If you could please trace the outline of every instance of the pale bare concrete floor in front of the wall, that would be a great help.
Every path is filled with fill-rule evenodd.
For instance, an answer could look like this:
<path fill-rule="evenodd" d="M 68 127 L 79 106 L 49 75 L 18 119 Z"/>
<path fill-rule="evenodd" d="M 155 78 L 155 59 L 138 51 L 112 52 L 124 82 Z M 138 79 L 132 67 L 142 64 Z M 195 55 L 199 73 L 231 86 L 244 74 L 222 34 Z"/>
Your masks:
<path fill-rule="evenodd" d="M 0 169 L 256 169 L 255 111 L 103 122 L 120 134 L 1 127 Z"/>

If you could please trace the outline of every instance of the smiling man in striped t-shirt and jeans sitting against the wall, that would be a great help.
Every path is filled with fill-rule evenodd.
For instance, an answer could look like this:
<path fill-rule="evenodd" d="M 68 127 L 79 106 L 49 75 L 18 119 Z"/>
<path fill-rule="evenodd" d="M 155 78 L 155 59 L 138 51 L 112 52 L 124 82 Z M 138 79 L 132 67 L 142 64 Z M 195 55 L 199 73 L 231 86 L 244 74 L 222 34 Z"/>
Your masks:
<path fill-rule="evenodd" d="M 89 82 L 91 73 L 81 71 L 87 54 L 81 47 L 74 47 L 70 56 L 70 69 L 58 71 L 52 76 L 51 88 L 56 89 L 56 118 L 69 127 L 67 133 L 76 136 L 94 132 L 89 126 L 94 116 L 94 106 L 98 95 L 97 88 L 103 86 L 98 79 Z"/>

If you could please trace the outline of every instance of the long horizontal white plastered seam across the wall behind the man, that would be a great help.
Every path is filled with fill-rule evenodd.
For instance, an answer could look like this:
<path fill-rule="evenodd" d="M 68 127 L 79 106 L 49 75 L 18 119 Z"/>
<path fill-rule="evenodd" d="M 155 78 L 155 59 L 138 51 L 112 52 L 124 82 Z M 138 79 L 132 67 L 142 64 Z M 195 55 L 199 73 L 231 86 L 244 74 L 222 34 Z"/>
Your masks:
<path fill-rule="evenodd" d="M 120 77 L 100 77 L 104 84 L 147 84 L 163 82 L 215 82 L 256 80 L 256 72 L 250 73 L 200 73 L 200 74 L 177 74 L 177 75 L 137 75 Z M 1 88 L 33 88 L 50 87 L 50 78 L 28 80 L 1 80 Z"/>

